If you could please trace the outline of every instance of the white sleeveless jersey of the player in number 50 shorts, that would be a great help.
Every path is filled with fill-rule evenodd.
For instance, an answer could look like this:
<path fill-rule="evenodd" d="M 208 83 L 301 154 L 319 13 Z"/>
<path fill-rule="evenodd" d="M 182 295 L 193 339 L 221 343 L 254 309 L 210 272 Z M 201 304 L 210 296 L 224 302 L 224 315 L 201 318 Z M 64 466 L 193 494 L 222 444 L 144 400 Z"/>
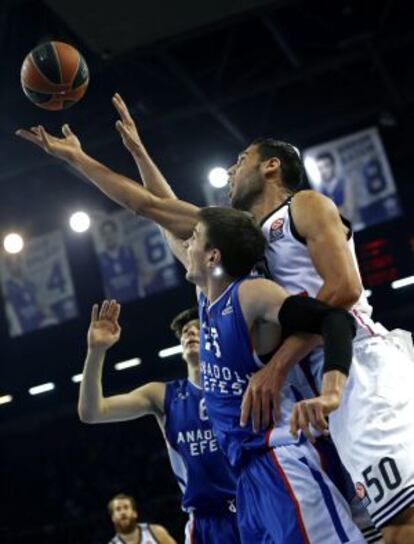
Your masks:
<path fill-rule="evenodd" d="M 267 240 L 267 272 L 271 279 L 289 293 L 303 293 L 316 297 L 322 287 L 323 279 L 316 271 L 305 241 L 296 232 L 290 204 L 291 198 L 262 221 L 262 231 Z M 348 245 L 359 274 L 352 231 L 348 238 Z M 372 307 L 364 291 L 351 312 L 358 323 L 358 337 L 385 334 L 384 327 L 371 319 Z"/>

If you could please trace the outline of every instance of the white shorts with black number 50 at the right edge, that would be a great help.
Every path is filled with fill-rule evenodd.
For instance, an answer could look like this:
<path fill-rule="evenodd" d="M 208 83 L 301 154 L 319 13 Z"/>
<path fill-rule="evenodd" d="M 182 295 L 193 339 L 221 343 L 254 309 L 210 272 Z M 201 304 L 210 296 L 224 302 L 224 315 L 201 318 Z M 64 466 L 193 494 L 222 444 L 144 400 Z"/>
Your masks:
<path fill-rule="evenodd" d="M 332 439 L 374 524 L 414 505 L 414 349 L 394 330 L 356 341 Z"/>

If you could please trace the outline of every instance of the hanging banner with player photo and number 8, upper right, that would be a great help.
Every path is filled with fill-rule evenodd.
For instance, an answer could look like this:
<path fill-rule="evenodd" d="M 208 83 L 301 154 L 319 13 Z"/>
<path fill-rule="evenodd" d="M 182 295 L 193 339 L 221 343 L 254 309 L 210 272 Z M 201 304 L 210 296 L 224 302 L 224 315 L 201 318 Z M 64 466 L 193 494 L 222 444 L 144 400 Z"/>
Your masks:
<path fill-rule="evenodd" d="M 329 196 L 361 230 L 401 215 L 401 207 L 376 128 L 350 134 L 303 152 L 311 186 Z"/>

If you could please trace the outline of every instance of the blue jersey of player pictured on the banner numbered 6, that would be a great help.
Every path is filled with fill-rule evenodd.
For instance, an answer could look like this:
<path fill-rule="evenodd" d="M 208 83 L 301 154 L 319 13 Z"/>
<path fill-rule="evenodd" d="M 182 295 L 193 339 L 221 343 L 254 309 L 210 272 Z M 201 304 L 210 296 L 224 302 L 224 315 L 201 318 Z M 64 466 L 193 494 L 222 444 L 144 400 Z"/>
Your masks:
<path fill-rule="evenodd" d="M 99 262 L 108 298 L 128 302 L 139 297 L 138 269 L 131 248 L 121 246 L 116 255 L 100 253 Z"/>

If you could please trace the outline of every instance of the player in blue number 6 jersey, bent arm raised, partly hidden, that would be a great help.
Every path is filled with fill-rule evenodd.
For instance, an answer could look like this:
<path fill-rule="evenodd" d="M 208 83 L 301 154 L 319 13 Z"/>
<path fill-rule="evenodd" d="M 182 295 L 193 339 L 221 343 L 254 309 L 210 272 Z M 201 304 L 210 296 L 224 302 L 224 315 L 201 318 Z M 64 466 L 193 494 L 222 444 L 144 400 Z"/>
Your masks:
<path fill-rule="evenodd" d="M 86 423 L 126 421 L 154 415 L 164 434 L 171 467 L 189 513 L 186 544 L 238 544 L 236 478 L 219 450 L 205 409 L 199 377 L 197 309 L 179 314 L 172 328 L 180 339 L 188 379 L 152 382 L 129 393 L 104 397 L 106 351 L 120 337 L 120 305 L 95 305 L 88 331 L 88 353 L 79 393 L 79 415 Z"/>

